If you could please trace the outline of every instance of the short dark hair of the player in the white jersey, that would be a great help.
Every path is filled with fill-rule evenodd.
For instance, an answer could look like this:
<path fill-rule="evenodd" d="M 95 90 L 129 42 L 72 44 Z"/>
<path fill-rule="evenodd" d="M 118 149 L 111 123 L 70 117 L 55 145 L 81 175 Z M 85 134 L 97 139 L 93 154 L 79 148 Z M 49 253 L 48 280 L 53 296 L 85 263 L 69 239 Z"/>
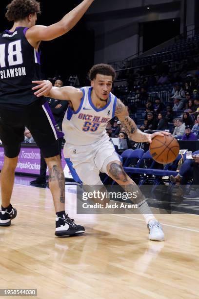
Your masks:
<path fill-rule="evenodd" d="M 109 64 L 95 64 L 89 71 L 89 79 L 93 81 L 96 79 L 97 74 L 105 75 L 105 76 L 112 76 L 113 81 L 116 78 L 116 71 L 115 69 Z"/>

